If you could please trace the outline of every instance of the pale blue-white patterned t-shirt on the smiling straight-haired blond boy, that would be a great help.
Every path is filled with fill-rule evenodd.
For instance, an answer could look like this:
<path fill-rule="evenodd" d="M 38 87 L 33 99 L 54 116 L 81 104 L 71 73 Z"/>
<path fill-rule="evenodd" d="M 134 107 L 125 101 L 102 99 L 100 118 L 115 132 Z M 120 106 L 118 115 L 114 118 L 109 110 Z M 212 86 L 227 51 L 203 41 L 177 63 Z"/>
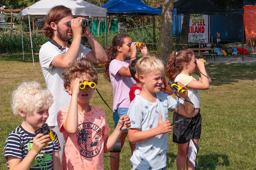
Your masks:
<path fill-rule="evenodd" d="M 130 128 L 146 131 L 157 127 L 160 114 L 162 114 L 162 122 L 168 120 L 168 109 L 177 108 L 178 103 L 172 96 L 162 91 L 156 95 L 157 100 L 153 103 L 143 99 L 140 95 L 135 96 L 127 113 L 131 120 Z M 130 159 L 132 169 L 159 170 L 166 167 L 166 151 L 168 149 L 168 133 L 136 143 L 136 148 Z"/>

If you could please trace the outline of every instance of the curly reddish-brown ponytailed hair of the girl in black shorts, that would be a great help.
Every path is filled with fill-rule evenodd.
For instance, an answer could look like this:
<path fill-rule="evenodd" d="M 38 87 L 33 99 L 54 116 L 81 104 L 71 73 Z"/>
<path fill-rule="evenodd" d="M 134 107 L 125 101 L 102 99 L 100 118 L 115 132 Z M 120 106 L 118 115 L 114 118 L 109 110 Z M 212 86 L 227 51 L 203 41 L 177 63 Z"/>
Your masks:
<path fill-rule="evenodd" d="M 175 77 L 183 70 L 184 63 L 190 62 L 194 52 L 191 50 L 173 51 L 169 57 L 166 68 L 166 76 L 174 81 Z"/>

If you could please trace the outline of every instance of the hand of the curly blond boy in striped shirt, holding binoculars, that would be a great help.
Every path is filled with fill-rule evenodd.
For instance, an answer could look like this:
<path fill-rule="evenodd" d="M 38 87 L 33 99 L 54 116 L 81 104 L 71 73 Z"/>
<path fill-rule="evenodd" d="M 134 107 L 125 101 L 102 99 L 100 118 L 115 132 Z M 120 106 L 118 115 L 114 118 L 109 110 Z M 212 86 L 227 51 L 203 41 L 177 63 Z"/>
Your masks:
<path fill-rule="evenodd" d="M 44 135 L 43 133 L 39 133 L 33 139 L 33 146 L 31 150 L 34 150 L 37 154 L 41 152 L 44 145 L 50 141 L 49 135 Z"/>

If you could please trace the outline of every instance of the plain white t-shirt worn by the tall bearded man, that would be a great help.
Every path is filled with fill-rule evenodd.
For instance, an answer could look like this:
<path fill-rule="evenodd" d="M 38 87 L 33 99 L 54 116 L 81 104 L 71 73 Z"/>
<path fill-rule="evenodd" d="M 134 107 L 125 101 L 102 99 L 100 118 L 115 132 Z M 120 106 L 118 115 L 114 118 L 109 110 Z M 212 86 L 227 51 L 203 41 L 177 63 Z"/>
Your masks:
<path fill-rule="evenodd" d="M 65 49 L 65 53 L 68 51 L 68 49 L 69 48 Z M 80 45 L 77 60 L 83 58 L 90 51 L 91 50 L 89 48 L 84 47 L 84 45 Z M 64 68 L 57 68 L 52 65 L 50 66 L 53 58 L 58 54 L 61 54 L 61 50 L 49 41 L 44 43 L 39 51 L 39 62 L 46 82 L 46 87 L 53 96 L 53 104 L 49 108 L 49 117 L 47 119 L 47 124 L 49 126 L 58 126 L 57 113 L 59 109 L 70 105 L 71 99 L 71 96 L 64 88 L 62 78 Z"/>

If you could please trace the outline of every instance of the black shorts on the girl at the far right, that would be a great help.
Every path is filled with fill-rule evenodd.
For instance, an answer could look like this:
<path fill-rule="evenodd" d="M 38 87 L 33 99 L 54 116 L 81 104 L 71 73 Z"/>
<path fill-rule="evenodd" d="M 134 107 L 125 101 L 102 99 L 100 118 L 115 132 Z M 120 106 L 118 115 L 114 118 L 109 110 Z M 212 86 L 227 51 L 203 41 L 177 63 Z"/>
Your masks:
<path fill-rule="evenodd" d="M 184 118 L 184 119 L 183 119 Z M 199 139 L 201 136 L 201 121 L 200 111 L 195 117 L 185 117 L 178 113 L 173 113 L 173 122 L 183 119 L 173 125 L 172 142 L 184 144 L 189 142 L 189 139 Z"/>

